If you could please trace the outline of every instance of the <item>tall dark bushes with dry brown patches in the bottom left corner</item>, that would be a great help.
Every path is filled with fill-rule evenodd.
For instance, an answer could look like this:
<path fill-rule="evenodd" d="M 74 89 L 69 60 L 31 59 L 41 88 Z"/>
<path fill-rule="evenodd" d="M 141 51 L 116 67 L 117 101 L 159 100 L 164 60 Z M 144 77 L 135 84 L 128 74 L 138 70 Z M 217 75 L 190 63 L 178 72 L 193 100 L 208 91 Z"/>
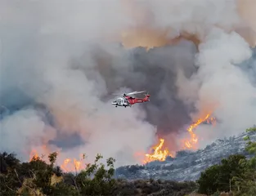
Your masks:
<path fill-rule="evenodd" d="M 63 174 L 55 166 L 57 154 L 49 154 L 50 164 L 41 158 L 33 158 L 29 163 L 21 163 L 14 154 L 0 154 L 1 195 L 39 194 L 39 195 L 79 195 L 111 194 L 115 180 L 115 159 L 107 159 L 107 169 L 97 162 L 102 158 L 97 154 L 96 161 L 88 164 L 78 176 Z"/>

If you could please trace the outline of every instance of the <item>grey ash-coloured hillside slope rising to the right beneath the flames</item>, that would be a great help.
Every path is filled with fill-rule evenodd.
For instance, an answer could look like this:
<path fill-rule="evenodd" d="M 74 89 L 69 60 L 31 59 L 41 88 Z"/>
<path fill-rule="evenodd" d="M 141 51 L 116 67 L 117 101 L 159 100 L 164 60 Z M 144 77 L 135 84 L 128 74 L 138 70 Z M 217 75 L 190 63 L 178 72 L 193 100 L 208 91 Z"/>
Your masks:
<path fill-rule="evenodd" d="M 195 152 L 180 151 L 176 158 L 168 157 L 164 162 L 147 163 L 145 166 L 132 165 L 119 167 L 115 177 L 129 180 L 136 179 L 162 179 L 162 180 L 197 180 L 200 172 L 213 164 L 220 163 L 222 158 L 231 154 L 244 154 L 245 136 L 249 135 L 256 140 L 256 133 L 242 133 L 222 140 L 215 140 L 211 145 Z"/>

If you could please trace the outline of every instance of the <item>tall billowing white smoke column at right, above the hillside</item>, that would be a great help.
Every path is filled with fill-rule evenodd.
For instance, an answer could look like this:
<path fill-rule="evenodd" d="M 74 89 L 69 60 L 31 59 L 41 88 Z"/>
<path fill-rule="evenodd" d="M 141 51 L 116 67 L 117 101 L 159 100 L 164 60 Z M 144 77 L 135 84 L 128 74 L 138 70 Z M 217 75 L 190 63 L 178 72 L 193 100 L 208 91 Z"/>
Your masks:
<path fill-rule="evenodd" d="M 211 134 L 214 137 L 209 137 L 211 140 L 216 136 L 238 134 L 256 121 L 256 105 L 253 103 L 256 89 L 236 66 L 250 57 L 249 44 L 239 34 L 223 33 L 220 29 L 213 29 L 200 46 L 197 58 L 200 69 L 196 78 L 201 86 L 197 106 L 203 110 L 214 105 L 213 115 L 219 121 Z M 206 131 L 207 128 L 204 135 Z"/>

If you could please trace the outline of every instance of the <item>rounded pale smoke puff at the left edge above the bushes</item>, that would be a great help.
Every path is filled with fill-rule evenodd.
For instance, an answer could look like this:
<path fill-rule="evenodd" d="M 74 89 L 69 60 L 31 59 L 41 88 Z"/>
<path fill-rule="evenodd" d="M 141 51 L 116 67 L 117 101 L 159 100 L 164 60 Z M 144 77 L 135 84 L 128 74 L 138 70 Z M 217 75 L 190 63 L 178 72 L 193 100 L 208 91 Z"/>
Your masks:
<path fill-rule="evenodd" d="M 41 144 L 54 139 L 56 130 L 47 126 L 34 109 L 23 109 L 2 119 L 1 123 L 1 149 L 23 155 L 30 146 Z"/>

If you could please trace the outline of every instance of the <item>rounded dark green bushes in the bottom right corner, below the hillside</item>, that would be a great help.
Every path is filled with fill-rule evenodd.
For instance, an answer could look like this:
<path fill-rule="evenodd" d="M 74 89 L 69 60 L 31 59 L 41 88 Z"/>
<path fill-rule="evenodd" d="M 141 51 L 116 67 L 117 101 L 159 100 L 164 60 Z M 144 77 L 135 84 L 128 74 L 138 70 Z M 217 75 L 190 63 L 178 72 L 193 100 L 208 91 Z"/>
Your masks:
<path fill-rule="evenodd" d="M 256 131 L 256 127 L 246 130 Z M 256 141 L 245 137 L 246 150 L 253 158 L 246 159 L 244 155 L 235 154 L 222 159 L 219 165 L 213 165 L 201 173 L 198 192 L 200 194 L 219 195 L 220 192 L 232 192 L 232 195 L 256 195 Z"/>

